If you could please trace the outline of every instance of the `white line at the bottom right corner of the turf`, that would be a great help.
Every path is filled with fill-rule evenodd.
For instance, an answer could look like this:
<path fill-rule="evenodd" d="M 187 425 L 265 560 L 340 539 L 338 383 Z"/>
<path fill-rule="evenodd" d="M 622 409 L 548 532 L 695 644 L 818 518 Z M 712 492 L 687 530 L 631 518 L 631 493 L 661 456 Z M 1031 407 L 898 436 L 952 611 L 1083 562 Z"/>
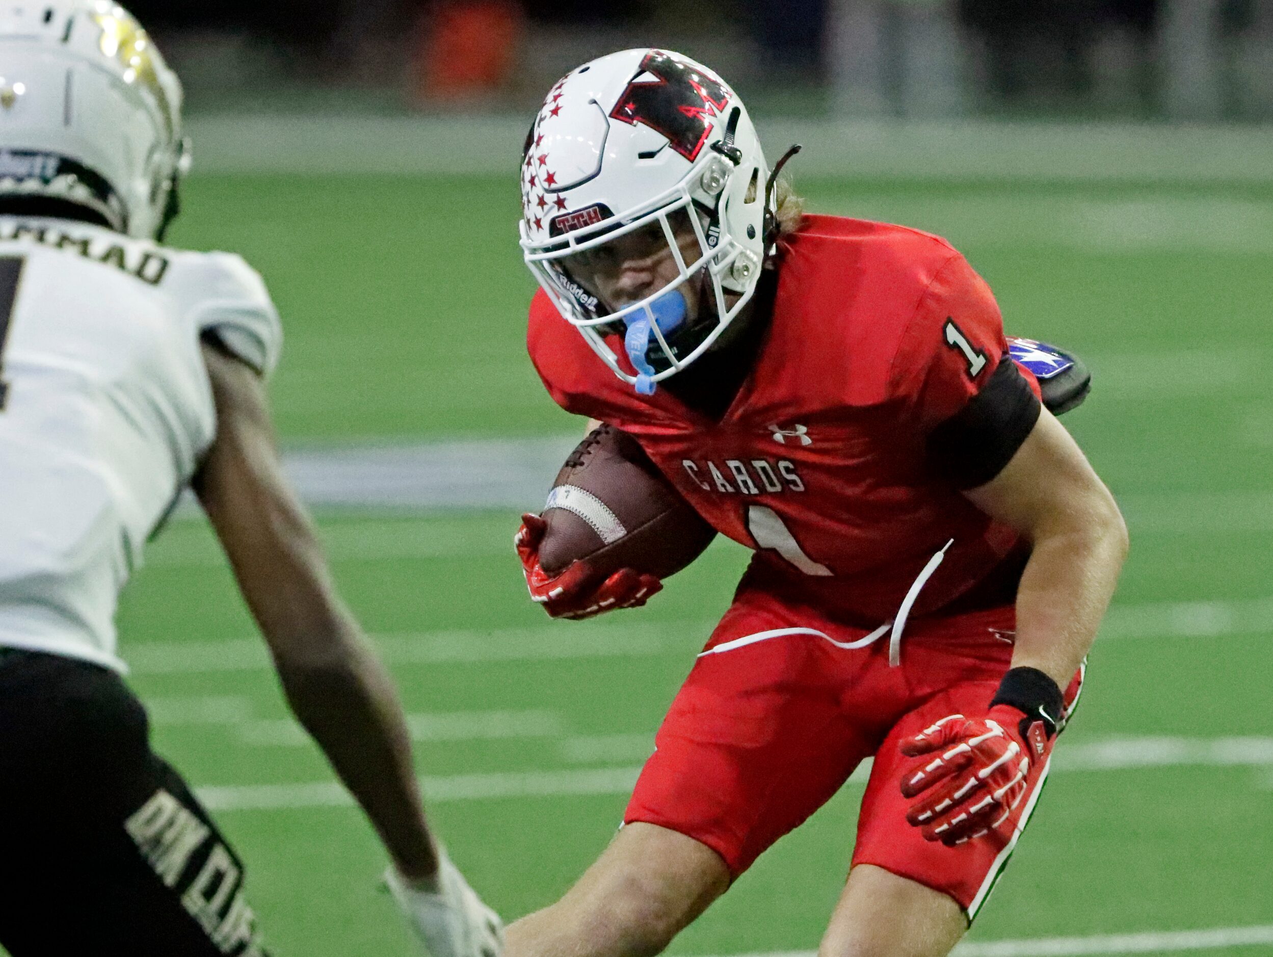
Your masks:
<path fill-rule="evenodd" d="M 1206 930 L 1151 930 L 1139 934 L 1040 937 L 1017 940 L 965 940 L 951 957 L 1083 957 L 1104 953 L 1179 953 L 1223 947 L 1273 944 L 1273 924 Z M 736 954 L 735 957 L 815 957 L 813 951 Z"/>

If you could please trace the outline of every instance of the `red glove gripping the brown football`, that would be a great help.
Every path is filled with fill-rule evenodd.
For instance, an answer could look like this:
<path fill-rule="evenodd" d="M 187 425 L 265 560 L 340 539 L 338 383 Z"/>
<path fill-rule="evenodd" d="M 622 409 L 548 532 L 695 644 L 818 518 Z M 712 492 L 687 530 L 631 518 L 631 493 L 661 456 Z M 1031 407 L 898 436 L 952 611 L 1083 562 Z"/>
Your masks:
<path fill-rule="evenodd" d="M 522 515 L 522 527 L 513 536 L 517 557 L 522 560 L 526 587 L 531 598 L 544 606 L 554 618 L 591 618 L 615 608 L 639 608 L 651 596 L 662 590 L 662 583 L 653 575 L 631 569 L 620 569 L 596 584 L 596 574 L 587 560 L 572 561 L 556 575 L 540 568 L 540 541 L 547 522 L 538 515 Z"/>

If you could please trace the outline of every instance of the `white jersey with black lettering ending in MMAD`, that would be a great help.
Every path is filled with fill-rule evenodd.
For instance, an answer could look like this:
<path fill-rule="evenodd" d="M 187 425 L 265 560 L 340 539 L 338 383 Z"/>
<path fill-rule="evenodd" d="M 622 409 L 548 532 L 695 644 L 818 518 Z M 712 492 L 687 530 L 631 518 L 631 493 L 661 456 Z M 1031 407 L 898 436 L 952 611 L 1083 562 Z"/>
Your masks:
<path fill-rule="evenodd" d="M 238 256 L 0 216 L 0 645 L 123 669 L 120 589 L 216 431 L 205 332 L 278 360 Z"/>

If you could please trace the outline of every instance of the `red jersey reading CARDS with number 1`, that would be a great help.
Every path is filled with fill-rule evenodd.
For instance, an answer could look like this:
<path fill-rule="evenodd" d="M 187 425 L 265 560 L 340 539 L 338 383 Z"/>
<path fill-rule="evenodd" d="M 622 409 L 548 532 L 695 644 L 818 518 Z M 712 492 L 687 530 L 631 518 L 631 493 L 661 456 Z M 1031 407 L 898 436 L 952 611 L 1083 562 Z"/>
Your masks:
<path fill-rule="evenodd" d="M 638 395 L 542 291 L 535 368 L 563 409 L 631 434 L 704 519 L 756 550 L 745 587 L 875 627 L 953 541 L 913 613 L 950 606 L 1021 556 L 925 447 L 1007 356 L 994 297 L 948 243 L 903 227 L 811 215 L 782 247 L 770 325 L 719 420 L 667 388 Z"/>

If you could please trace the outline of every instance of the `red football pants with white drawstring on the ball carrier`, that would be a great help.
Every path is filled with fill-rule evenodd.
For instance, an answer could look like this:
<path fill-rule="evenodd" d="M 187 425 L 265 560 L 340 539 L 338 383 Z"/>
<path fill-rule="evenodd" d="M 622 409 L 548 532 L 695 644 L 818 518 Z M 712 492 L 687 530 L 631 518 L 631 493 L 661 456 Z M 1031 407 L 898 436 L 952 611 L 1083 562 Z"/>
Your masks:
<path fill-rule="evenodd" d="M 1012 827 L 947 848 L 906 823 L 900 781 L 918 758 L 903 757 L 899 743 L 948 714 L 989 708 L 1009 667 L 1013 625 L 1011 607 L 917 620 L 903 638 L 901 666 L 890 668 L 887 634 L 839 648 L 866 632 L 741 593 L 672 702 L 625 822 L 694 837 L 737 878 L 873 756 L 853 864 L 947 893 L 971 920 L 1034 811 L 1048 764 L 1031 770 Z M 712 650 L 728 641 L 737 645 Z M 1067 711 L 1080 690 L 1081 672 L 1066 692 Z"/>

